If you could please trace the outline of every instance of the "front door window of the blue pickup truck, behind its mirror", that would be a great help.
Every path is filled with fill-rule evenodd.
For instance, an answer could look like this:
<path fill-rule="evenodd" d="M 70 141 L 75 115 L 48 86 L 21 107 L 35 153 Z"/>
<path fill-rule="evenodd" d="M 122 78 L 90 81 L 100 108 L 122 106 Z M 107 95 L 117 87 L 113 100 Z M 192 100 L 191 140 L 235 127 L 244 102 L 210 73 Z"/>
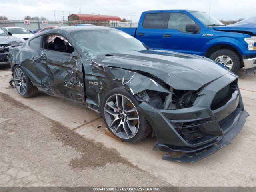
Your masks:
<path fill-rule="evenodd" d="M 183 13 L 171 13 L 168 22 L 168 29 L 176 29 L 186 33 L 187 24 L 196 24 L 188 15 Z M 196 24 L 198 25 L 198 24 Z M 199 27 L 199 26 L 198 26 Z"/>

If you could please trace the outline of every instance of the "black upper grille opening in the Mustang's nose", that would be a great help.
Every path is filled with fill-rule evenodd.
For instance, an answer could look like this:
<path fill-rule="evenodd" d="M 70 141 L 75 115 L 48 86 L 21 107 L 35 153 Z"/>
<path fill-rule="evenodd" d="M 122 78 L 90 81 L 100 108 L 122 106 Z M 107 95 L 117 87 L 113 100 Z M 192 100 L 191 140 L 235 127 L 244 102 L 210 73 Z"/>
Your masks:
<path fill-rule="evenodd" d="M 232 93 L 234 93 L 236 89 L 237 80 L 219 90 L 212 100 L 211 110 L 216 110 L 224 106 L 228 102 L 228 100 L 230 100 L 230 98 L 232 97 Z"/>

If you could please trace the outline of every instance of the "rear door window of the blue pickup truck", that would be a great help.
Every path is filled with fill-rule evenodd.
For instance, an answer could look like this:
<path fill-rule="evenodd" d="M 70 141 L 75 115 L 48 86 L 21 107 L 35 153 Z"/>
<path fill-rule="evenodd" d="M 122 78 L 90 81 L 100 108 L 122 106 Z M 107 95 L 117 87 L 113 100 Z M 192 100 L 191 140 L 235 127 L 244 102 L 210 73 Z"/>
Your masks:
<path fill-rule="evenodd" d="M 146 14 L 142 27 L 151 29 L 162 29 L 164 27 L 164 13 L 150 13 Z"/>

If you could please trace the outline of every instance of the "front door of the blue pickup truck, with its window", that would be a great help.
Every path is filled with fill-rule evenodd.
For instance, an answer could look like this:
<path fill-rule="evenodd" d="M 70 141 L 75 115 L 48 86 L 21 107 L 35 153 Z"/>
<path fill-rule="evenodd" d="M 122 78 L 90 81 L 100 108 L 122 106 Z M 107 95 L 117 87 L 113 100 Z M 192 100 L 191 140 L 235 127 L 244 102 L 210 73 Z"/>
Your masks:
<path fill-rule="evenodd" d="M 171 12 L 163 30 L 162 49 L 182 53 L 198 54 L 200 48 L 200 25 L 185 13 Z M 195 24 L 197 33 L 186 32 L 187 24 Z"/>

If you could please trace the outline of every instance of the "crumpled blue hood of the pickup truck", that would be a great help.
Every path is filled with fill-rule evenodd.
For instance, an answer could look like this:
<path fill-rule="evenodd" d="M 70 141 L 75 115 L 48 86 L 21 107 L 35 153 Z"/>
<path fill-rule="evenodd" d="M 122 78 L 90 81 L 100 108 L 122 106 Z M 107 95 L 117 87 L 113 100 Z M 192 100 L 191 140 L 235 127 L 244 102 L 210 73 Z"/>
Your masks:
<path fill-rule="evenodd" d="M 256 17 L 251 17 L 232 25 L 214 27 L 214 29 L 218 31 L 244 32 L 244 33 L 249 32 L 256 35 Z"/>

